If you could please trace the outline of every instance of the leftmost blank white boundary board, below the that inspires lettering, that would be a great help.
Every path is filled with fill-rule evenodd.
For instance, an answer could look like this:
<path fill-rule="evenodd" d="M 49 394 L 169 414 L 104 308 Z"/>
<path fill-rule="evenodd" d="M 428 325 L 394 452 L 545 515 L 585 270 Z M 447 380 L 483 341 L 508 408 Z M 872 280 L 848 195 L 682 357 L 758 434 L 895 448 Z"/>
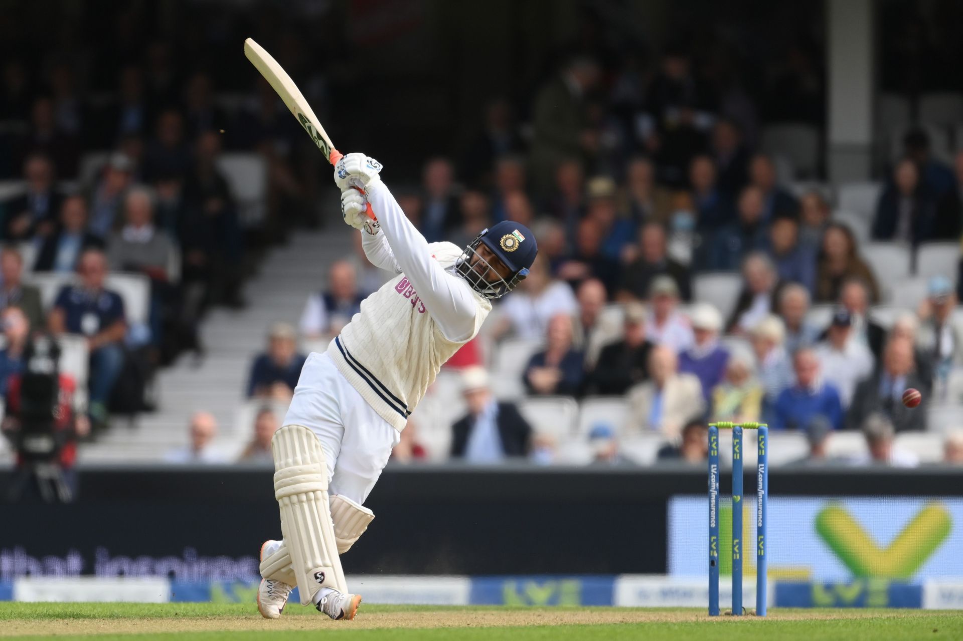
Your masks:
<path fill-rule="evenodd" d="M 39 577 L 13 581 L 13 601 L 167 603 L 166 578 Z"/>

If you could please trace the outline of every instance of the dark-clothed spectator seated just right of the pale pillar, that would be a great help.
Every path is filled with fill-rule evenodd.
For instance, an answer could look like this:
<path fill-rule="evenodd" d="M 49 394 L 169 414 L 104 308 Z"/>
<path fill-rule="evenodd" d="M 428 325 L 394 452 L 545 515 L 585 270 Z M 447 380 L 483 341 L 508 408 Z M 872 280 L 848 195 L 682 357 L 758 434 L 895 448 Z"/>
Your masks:
<path fill-rule="evenodd" d="M 913 161 L 903 159 L 880 194 L 872 221 L 872 240 L 917 245 L 936 237 L 936 202 L 920 180 Z"/>

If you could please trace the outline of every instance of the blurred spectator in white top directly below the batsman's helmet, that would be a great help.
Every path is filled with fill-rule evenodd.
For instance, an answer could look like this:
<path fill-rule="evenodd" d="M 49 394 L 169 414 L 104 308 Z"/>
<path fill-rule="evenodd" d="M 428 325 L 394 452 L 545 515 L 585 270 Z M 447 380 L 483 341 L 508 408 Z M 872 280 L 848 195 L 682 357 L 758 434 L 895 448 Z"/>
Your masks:
<path fill-rule="evenodd" d="M 545 259 L 539 256 L 528 278 L 502 303 L 492 334 L 497 338 L 510 332 L 518 338 L 540 341 L 550 318 L 556 314 L 574 316 L 577 311 L 572 288 L 551 278 Z"/>

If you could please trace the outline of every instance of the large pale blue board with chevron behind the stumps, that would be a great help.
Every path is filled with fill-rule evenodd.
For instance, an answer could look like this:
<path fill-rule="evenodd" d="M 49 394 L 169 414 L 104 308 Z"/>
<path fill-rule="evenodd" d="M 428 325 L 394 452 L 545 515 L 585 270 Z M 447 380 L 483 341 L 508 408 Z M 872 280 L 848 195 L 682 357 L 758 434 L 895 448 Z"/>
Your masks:
<path fill-rule="evenodd" d="M 746 488 L 746 498 L 748 498 Z M 674 497 L 668 503 L 668 573 L 706 577 L 709 499 Z M 732 573 L 731 501 L 719 509 L 719 570 Z M 742 510 L 743 537 L 756 541 L 756 504 Z M 963 577 L 963 499 L 770 497 L 769 580 L 846 582 Z M 753 553 L 743 554 L 746 583 L 755 580 Z M 725 579 L 723 578 L 723 581 Z"/>

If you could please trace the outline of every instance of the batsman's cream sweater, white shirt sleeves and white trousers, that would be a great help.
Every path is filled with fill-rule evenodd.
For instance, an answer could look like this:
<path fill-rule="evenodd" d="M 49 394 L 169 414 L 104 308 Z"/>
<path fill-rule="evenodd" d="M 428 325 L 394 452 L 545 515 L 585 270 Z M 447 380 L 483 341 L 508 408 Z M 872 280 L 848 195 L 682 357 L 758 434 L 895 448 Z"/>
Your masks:
<path fill-rule="evenodd" d="M 462 248 L 428 244 L 384 184 L 367 192 L 380 231 L 360 232 L 368 259 L 398 275 L 361 302 L 325 353 L 301 370 L 284 424 L 325 449 L 328 492 L 363 503 L 441 366 L 491 311 L 454 271 Z"/>

